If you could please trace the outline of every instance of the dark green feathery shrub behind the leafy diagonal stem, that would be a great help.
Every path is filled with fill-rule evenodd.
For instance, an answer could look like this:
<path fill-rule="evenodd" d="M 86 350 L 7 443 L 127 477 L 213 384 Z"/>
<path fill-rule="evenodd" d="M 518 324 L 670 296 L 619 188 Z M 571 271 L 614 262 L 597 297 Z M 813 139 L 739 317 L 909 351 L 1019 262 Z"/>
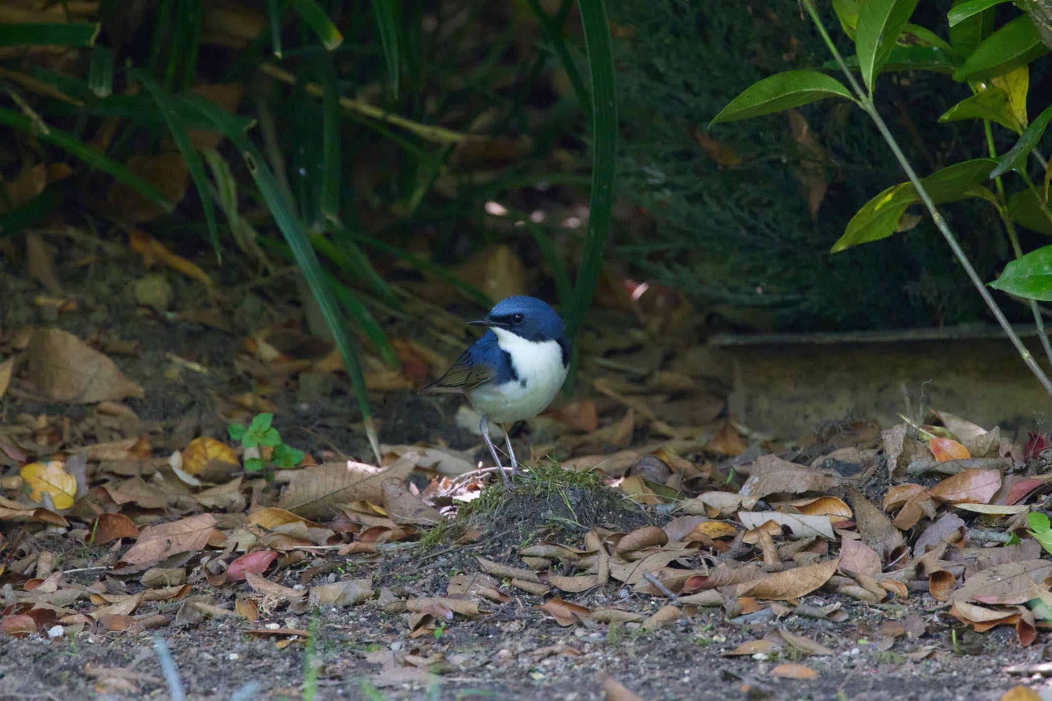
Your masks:
<path fill-rule="evenodd" d="M 945 36 L 947 7 L 925 5 L 913 21 Z M 704 138 L 704 126 L 746 87 L 826 62 L 826 47 L 794 4 L 776 17 L 760 0 L 626 0 L 610 11 L 621 28 L 614 41 L 624 136 L 621 192 L 654 220 L 651 230 L 620 242 L 621 254 L 651 279 L 732 319 L 743 308 L 757 308 L 777 329 L 913 327 L 984 317 L 982 301 L 962 293 L 965 275 L 928 219 L 877 244 L 829 252 L 863 204 L 905 180 L 868 118 L 850 102 L 798 107 L 827 157 L 808 166 L 809 174 L 829 184 L 814 220 L 794 171 L 815 159 L 793 139 L 786 115 L 713 127 L 711 139 L 733 149 L 742 160 L 737 166 L 717 164 L 701 147 L 695 133 Z M 845 37 L 835 40 L 852 53 Z M 1034 71 L 1031 85 L 1041 79 Z M 882 77 L 879 107 L 919 174 L 988 156 L 976 122 L 936 123 L 969 95 L 945 75 Z M 993 207 L 970 201 L 945 212 L 979 274 L 992 279 L 1009 257 Z"/>

